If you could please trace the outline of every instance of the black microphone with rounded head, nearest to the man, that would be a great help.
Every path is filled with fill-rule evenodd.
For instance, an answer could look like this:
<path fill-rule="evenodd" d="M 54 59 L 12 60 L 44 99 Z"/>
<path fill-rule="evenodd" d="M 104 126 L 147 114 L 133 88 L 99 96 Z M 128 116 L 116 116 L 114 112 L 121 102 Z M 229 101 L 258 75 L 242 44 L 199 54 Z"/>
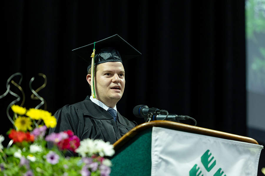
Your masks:
<path fill-rule="evenodd" d="M 145 118 L 147 117 L 148 113 L 152 114 L 167 114 L 166 110 L 160 110 L 158 108 L 149 108 L 145 105 L 138 105 L 133 108 L 133 115 L 135 115 L 138 118 Z"/>

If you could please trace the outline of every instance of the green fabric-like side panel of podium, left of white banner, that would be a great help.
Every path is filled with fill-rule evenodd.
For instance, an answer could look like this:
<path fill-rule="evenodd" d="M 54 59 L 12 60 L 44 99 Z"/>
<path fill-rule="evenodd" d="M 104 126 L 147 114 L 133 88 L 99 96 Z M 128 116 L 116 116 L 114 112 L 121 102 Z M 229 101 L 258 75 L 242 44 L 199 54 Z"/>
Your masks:
<path fill-rule="evenodd" d="M 152 128 L 148 128 L 122 145 L 111 158 L 110 175 L 151 175 L 151 135 Z"/>

